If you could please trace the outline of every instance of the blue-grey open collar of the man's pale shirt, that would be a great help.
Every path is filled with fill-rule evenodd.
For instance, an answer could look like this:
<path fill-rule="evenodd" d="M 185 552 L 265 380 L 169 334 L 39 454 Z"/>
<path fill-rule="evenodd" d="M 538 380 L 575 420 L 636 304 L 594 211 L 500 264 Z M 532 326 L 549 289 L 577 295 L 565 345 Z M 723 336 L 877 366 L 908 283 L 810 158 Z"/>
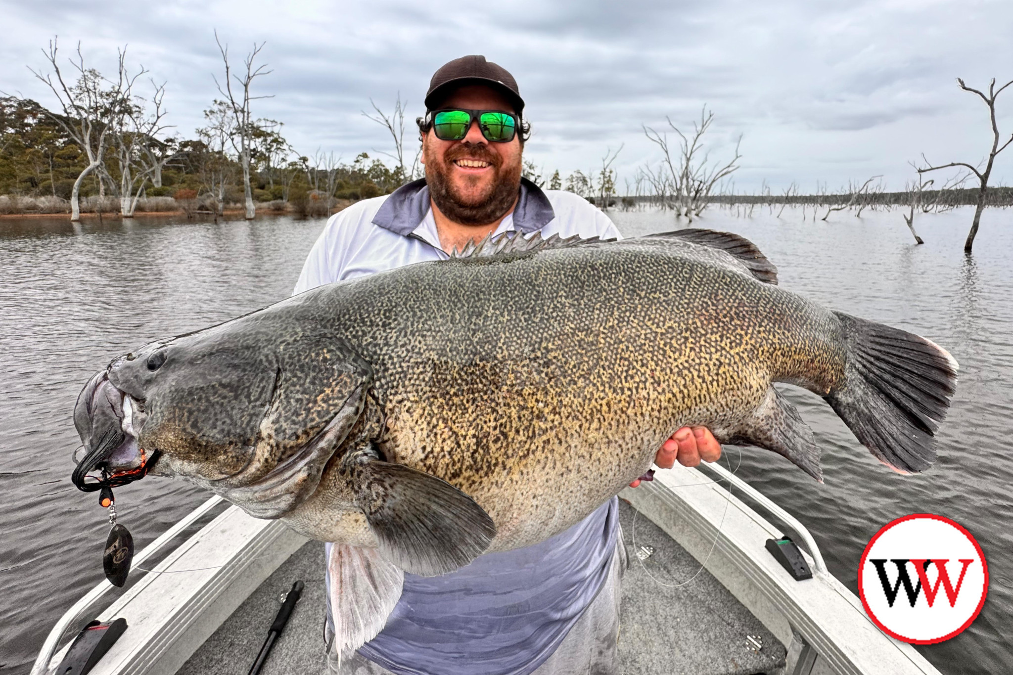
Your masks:
<path fill-rule="evenodd" d="M 407 237 L 430 209 L 430 188 L 424 178 L 401 185 L 381 204 L 373 224 Z M 514 228 L 528 235 L 541 230 L 556 217 L 545 192 L 527 178 L 521 178 L 521 195 L 514 208 Z"/>

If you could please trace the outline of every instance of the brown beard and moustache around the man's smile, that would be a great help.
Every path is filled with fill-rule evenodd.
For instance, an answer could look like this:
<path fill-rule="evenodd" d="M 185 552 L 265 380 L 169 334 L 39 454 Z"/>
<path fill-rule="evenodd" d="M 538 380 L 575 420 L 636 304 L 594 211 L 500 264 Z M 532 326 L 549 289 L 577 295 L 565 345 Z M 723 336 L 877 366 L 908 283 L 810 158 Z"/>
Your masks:
<path fill-rule="evenodd" d="M 461 194 L 451 180 L 454 160 L 462 158 L 488 162 L 492 167 L 491 184 L 477 196 Z M 426 152 L 425 182 L 433 201 L 451 221 L 461 225 L 488 225 L 502 218 L 517 200 L 521 188 L 521 164 L 503 167 L 502 158 L 484 145 L 462 143 L 448 150 L 442 162 Z"/>

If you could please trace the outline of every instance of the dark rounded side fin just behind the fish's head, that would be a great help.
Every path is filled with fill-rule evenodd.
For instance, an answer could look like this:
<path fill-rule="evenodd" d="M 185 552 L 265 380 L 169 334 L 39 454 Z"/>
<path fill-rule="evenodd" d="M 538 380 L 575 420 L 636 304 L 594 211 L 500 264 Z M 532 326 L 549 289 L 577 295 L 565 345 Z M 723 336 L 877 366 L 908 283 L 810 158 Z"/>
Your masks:
<path fill-rule="evenodd" d="M 492 518 L 475 500 L 436 476 L 381 460 L 372 443 L 349 450 L 341 473 L 380 552 L 406 572 L 452 572 L 495 536 Z"/>

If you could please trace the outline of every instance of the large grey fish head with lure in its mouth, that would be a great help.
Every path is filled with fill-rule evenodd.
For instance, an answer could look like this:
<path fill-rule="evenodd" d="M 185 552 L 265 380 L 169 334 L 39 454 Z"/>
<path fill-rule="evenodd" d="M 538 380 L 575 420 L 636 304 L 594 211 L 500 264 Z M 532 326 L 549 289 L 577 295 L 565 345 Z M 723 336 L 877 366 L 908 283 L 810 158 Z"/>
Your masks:
<path fill-rule="evenodd" d="M 75 483 L 96 469 L 121 480 L 176 476 L 256 517 L 281 517 L 316 488 L 369 378 L 340 341 L 271 324 L 237 320 L 149 343 L 82 390 Z"/>

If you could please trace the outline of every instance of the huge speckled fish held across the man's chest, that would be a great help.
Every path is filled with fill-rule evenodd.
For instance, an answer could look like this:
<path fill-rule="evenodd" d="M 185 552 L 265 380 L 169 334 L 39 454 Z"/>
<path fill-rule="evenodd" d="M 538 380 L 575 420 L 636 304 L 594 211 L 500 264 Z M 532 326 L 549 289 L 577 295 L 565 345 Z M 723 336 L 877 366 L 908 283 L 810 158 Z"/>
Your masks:
<path fill-rule="evenodd" d="M 824 397 L 894 471 L 927 469 L 956 361 L 776 283 L 753 244 L 708 230 L 486 240 L 116 358 L 78 400 L 75 481 L 178 476 L 335 542 L 338 648 L 355 649 L 403 572 L 566 529 L 680 427 L 822 480 L 774 383 Z"/>

